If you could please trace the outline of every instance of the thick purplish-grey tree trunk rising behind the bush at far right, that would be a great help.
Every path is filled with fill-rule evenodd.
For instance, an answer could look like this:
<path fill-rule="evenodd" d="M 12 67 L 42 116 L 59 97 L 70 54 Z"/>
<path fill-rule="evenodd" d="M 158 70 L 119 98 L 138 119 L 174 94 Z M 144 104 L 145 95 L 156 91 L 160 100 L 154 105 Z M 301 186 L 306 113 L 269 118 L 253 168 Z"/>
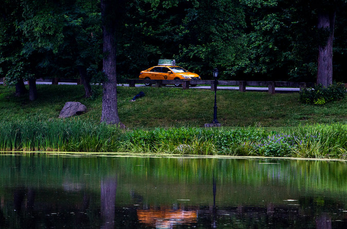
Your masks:
<path fill-rule="evenodd" d="M 333 83 L 333 40 L 336 11 L 318 13 L 318 29 L 329 32 L 324 46 L 318 47 L 317 84 L 327 87 Z"/>

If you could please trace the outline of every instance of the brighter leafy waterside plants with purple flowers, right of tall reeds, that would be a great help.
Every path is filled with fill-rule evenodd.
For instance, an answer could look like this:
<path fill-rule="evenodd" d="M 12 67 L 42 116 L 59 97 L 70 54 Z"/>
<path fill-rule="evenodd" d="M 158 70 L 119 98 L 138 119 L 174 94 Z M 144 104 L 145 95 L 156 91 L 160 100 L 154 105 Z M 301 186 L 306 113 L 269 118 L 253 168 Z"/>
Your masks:
<path fill-rule="evenodd" d="M 256 127 L 157 128 L 125 136 L 125 152 L 347 159 L 347 125 L 342 124 L 299 126 L 279 133 Z"/>

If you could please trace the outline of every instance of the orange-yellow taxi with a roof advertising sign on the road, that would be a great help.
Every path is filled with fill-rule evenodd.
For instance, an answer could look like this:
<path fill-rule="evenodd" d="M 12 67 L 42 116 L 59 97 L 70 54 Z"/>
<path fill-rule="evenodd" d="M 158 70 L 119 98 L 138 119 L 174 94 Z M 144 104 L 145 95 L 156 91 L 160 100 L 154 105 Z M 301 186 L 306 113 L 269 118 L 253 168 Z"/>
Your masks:
<path fill-rule="evenodd" d="M 171 62 L 171 63 L 170 63 Z M 159 60 L 158 66 L 141 71 L 139 79 L 186 79 L 199 80 L 199 75 L 176 66 L 175 60 Z M 151 84 L 145 84 L 151 86 Z M 176 87 L 180 84 L 174 84 Z"/>

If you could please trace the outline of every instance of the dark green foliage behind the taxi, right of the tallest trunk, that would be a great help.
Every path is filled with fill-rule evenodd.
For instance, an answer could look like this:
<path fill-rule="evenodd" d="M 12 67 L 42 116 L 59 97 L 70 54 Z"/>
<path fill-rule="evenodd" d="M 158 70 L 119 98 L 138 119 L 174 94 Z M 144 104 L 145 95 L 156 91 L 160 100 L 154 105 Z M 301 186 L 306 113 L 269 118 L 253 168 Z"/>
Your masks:
<path fill-rule="evenodd" d="M 125 49 L 118 44 L 121 75 L 136 77 L 159 58 L 175 58 L 203 78 L 217 67 L 223 79 L 315 81 L 317 47 L 326 39 L 317 18 L 325 6 L 337 9 L 334 71 L 337 81 L 344 79 L 345 1 L 148 2 L 134 1 L 124 12 L 132 19 L 124 19 L 127 28 L 140 36 L 120 33 L 126 39 Z"/>

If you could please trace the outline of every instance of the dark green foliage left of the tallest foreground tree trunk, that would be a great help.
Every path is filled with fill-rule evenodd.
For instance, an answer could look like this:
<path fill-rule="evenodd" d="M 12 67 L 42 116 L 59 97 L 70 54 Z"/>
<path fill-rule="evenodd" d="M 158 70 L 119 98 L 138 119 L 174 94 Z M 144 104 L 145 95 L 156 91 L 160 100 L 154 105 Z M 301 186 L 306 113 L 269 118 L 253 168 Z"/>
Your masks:
<path fill-rule="evenodd" d="M 98 1 L 5 1 L 0 17 L 0 73 L 18 79 L 97 75 L 101 61 Z"/>

